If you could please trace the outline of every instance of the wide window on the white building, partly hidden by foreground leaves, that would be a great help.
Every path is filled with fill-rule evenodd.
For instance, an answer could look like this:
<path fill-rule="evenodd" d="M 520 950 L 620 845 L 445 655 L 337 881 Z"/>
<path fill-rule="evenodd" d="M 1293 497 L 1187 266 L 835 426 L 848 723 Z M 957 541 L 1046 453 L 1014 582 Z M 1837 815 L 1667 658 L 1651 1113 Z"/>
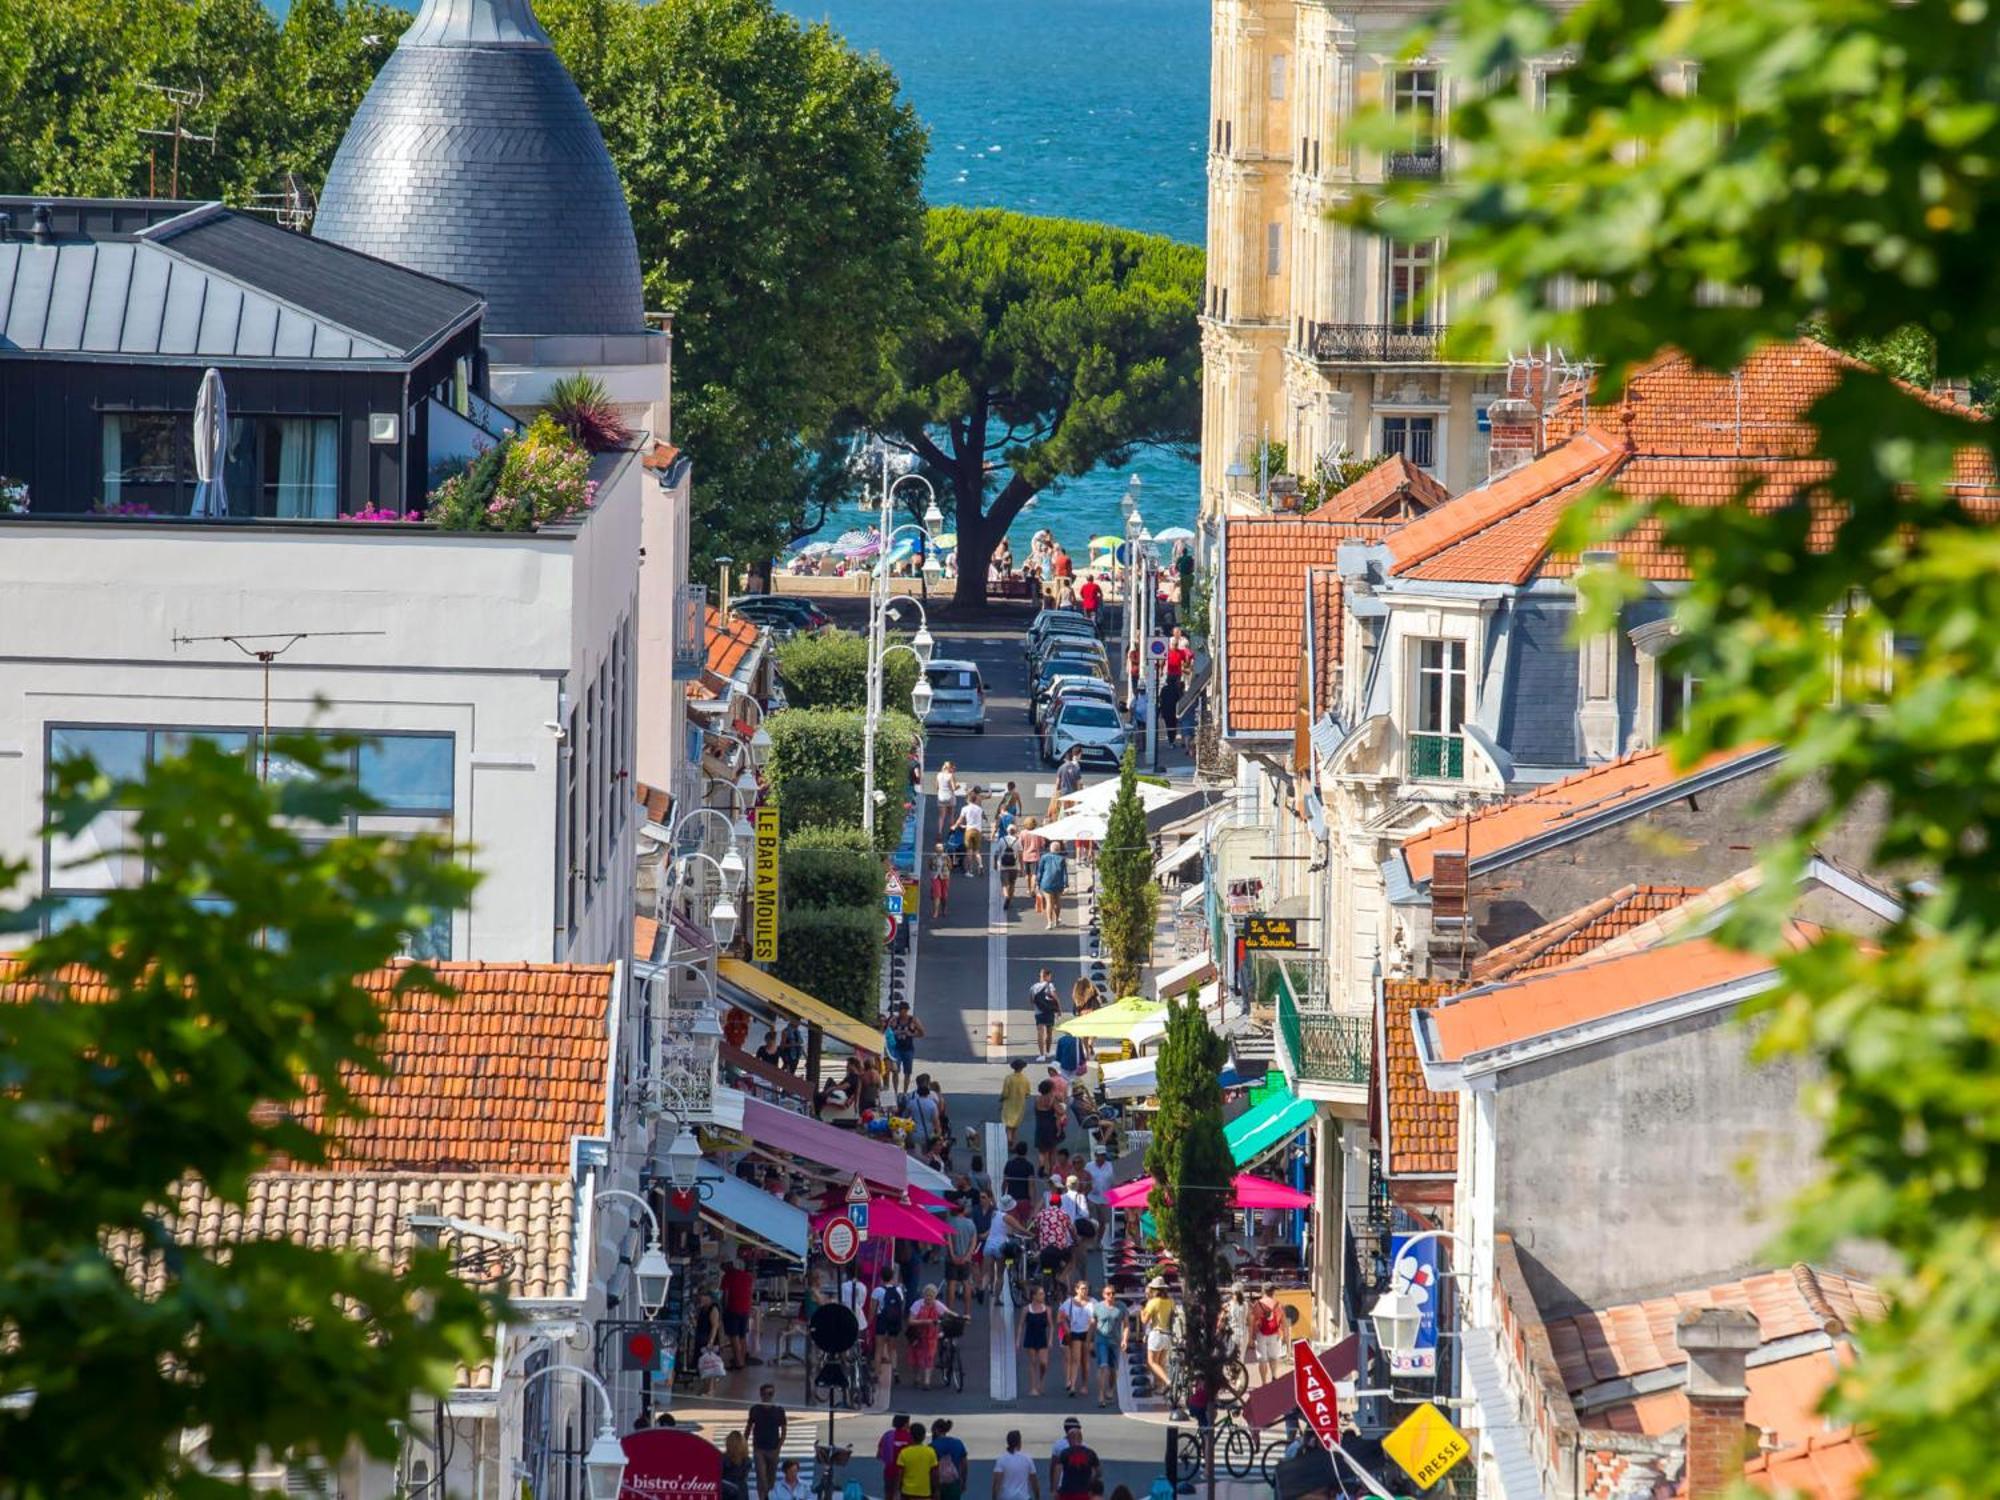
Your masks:
<path fill-rule="evenodd" d="M 206 740 L 222 750 L 256 756 L 256 730 L 238 728 L 152 728 L 108 724 L 50 724 L 48 776 L 62 760 L 90 756 L 98 770 L 116 780 L 136 780 L 146 768 L 170 756 L 186 754 L 194 740 Z M 410 838 L 434 832 L 450 838 L 454 812 L 454 738 L 450 734 L 378 734 L 346 752 L 346 768 L 360 790 L 372 796 L 376 812 L 354 814 L 334 834 L 378 834 Z M 300 776 L 304 768 L 284 756 L 270 758 L 272 778 Z M 56 930 L 94 914 L 102 898 L 92 892 L 128 890 L 146 878 L 144 850 L 132 846 L 136 814 L 112 808 L 102 812 L 74 838 L 48 836 L 42 842 L 42 890 L 54 910 L 48 928 Z M 452 956 L 452 918 L 442 914 L 430 928 L 412 932 L 406 944 L 412 958 Z"/>

